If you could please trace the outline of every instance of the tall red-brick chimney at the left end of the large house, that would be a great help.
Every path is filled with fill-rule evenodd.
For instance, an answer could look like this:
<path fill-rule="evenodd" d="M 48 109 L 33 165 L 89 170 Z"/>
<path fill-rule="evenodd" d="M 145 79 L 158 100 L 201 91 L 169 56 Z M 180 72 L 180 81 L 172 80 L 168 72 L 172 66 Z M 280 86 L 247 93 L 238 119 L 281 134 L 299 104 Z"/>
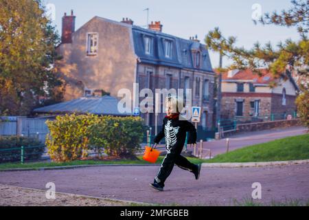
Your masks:
<path fill-rule="evenodd" d="M 72 34 L 75 32 L 75 19 L 73 15 L 73 10 L 71 10 L 71 15 L 62 17 L 62 36 L 61 43 L 72 43 Z"/>

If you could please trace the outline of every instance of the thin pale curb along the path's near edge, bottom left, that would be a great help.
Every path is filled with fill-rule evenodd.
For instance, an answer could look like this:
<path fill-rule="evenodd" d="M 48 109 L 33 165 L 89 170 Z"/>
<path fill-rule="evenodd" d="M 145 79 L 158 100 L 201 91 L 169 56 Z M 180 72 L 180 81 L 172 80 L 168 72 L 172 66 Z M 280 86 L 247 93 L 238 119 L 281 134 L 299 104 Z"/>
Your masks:
<path fill-rule="evenodd" d="M 26 187 L 21 187 L 21 186 L 10 186 L 10 185 L 3 185 L 0 184 L 1 186 L 8 186 L 8 187 L 14 187 L 14 188 L 20 188 L 23 190 L 34 190 L 37 192 L 46 192 L 46 190 L 39 190 L 36 188 L 26 188 Z M 100 199 L 100 200 L 106 200 L 106 201 L 115 201 L 115 202 L 119 202 L 119 203 L 135 203 L 138 205 L 142 205 L 142 206 L 155 206 L 155 204 L 152 203 L 144 203 L 141 201 L 129 201 L 129 200 L 122 200 L 122 199 L 110 199 L 110 198 L 104 198 L 104 197 L 92 197 L 92 196 L 88 196 L 88 195 L 78 195 L 78 194 L 72 194 L 72 193 L 67 193 L 67 192 L 56 192 L 56 194 L 58 195 L 67 195 L 67 196 L 71 196 L 71 197 L 83 197 L 83 198 L 88 198 L 88 199 Z"/>

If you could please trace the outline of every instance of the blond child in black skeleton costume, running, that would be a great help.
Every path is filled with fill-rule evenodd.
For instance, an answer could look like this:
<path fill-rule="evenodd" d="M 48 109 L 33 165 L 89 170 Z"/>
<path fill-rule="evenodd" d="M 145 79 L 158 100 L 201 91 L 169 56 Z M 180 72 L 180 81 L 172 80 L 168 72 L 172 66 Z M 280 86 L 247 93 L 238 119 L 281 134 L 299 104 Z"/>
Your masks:
<path fill-rule="evenodd" d="M 181 156 L 187 131 L 189 132 L 187 144 L 196 144 L 196 129 L 191 122 L 181 117 L 183 109 L 183 100 L 176 96 L 168 97 L 166 104 L 166 116 L 163 119 L 162 130 L 155 137 L 155 143 L 159 144 L 165 136 L 165 155 L 159 173 L 155 177 L 154 183 L 150 184 L 152 188 L 163 191 L 164 182 L 172 172 L 174 164 L 184 170 L 194 173 L 195 179 L 198 179 L 201 171 L 201 164 L 192 164 L 185 157 Z"/>

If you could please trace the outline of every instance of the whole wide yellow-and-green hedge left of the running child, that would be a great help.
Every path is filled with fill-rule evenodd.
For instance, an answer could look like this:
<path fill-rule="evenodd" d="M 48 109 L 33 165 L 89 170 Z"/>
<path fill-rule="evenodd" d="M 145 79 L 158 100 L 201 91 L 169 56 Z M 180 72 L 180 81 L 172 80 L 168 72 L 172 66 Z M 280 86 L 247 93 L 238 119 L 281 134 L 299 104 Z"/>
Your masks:
<path fill-rule="evenodd" d="M 47 121 L 46 145 L 55 162 L 87 157 L 89 150 L 115 157 L 133 156 L 143 137 L 141 118 L 62 115 Z"/>

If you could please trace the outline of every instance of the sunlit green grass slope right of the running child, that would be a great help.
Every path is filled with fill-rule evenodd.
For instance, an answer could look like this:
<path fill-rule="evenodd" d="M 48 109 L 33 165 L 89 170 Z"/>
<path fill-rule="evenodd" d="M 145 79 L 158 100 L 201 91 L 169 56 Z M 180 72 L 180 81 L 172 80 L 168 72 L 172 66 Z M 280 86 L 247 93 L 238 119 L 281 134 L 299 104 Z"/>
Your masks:
<path fill-rule="evenodd" d="M 217 155 L 214 159 L 207 160 L 207 163 L 271 162 L 298 159 L 309 159 L 309 134 L 247 146 Z"/>

